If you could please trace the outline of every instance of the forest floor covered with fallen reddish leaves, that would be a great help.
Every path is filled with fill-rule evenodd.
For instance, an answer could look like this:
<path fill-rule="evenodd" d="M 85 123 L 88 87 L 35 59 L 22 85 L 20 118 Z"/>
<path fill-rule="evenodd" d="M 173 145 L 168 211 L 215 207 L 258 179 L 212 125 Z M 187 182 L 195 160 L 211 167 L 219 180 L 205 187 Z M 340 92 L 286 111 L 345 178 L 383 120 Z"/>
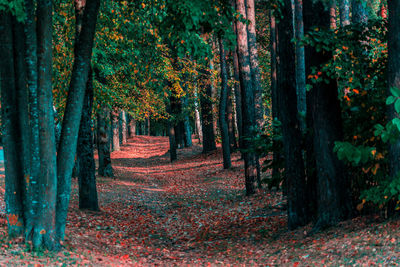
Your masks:
<path fill-rule="evenodd" d="M 243 164 L 197 144 L 169 162 L 168 139 L 138 136 L 112 153 L 115 179 L 98 177 L 101 211 L 78 209 L 74 179 L 64 249 L 30 253 L 7 240 L 0 206 L 1 266 L 322 266 L 400 263 L 400 222 L 358 217 L 307 236 L 286 227 L 280 192 L 246 197 Z M 4 173 L 4 168 L 1 169 Z M 4 174 L 0 177 L 4 198 Z"/>

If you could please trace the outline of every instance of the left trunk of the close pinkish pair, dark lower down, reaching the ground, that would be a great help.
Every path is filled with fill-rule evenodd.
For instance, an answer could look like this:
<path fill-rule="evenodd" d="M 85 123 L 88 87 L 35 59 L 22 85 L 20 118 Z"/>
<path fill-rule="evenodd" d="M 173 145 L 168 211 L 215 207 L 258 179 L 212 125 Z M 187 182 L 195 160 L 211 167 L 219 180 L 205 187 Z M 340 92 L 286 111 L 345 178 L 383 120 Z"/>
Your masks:
<path fill-rule="evenodd" d="M 236 0 L 238 13 L 246 18 L 245 0 Z M 256 132 L 254 91 L 251 77 L 249 47 L 247 39 L 246 24 L 237 21 L 237 43 L 239 58 L 240 87 L 242 89 L 242 115 L 243 115 L 243 149 L 251 149 L 253 142 L 251 139 Z M 257 164 L 254 152 L 246 151 L 243 153 L 245 165 L 245 184 L 246 194 L 251 195 L 256 192 Z"/>

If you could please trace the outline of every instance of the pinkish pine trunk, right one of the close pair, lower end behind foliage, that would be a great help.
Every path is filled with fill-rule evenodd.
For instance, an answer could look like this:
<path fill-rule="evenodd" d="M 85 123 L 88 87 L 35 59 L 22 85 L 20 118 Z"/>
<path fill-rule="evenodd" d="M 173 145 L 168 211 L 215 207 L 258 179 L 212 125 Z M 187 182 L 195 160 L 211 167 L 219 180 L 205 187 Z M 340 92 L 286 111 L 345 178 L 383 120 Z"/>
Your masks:
<path fill-rule="evenodd" d="M 249 42 L 251 80 L 254 90 L 256 124 L 258 131 L 261 131 L 264 127 L 264 105 L 261 88 L 260 66 L 258 63 L 256 8 L 254 0 L 246 0 L 246 15 L 247 19 L 249 20 L 249 24 L 247 25 L 247 38 Z"/>

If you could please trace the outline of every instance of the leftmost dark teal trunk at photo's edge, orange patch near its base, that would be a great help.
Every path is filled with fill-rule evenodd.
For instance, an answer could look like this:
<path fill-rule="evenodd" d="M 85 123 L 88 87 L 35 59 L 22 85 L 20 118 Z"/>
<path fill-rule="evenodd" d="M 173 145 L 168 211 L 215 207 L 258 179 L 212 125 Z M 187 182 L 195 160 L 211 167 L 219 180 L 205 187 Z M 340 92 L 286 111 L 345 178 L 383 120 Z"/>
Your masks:
<path fill-rule="evenodd" d="M 22 199 L 22 162 L 20 158 L 20 128 L 18 124 L 17 90 L 14 72 L 12 19 L 0 12 L 0 87 L 5 167 L 5 202 L 8 235 L 16 237 L 24 230 Z"/>

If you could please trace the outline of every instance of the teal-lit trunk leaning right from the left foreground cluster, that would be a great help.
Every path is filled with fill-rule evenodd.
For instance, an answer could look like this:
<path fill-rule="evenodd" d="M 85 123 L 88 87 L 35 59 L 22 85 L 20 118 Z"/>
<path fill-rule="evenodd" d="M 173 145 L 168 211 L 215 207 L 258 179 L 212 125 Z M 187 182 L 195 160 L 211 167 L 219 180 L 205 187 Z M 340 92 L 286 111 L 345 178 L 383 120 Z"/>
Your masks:
<path fill-rule="evenodd" d="M 88 1 L 82 20 L 82 30 L 76 41 L 76 53 L 67 105 L 62 124 L 60 146 L 57 152 L 57 237 L 64 240 L 65 224 L 71 191 L 71 175 L 78 141 L 86 83 L 89 75 L 94 34 L 100 0 Z M 51 21 L 49 22 L 51 24 Z M 53 122 L 54 123 L 54 122 Z"/>

